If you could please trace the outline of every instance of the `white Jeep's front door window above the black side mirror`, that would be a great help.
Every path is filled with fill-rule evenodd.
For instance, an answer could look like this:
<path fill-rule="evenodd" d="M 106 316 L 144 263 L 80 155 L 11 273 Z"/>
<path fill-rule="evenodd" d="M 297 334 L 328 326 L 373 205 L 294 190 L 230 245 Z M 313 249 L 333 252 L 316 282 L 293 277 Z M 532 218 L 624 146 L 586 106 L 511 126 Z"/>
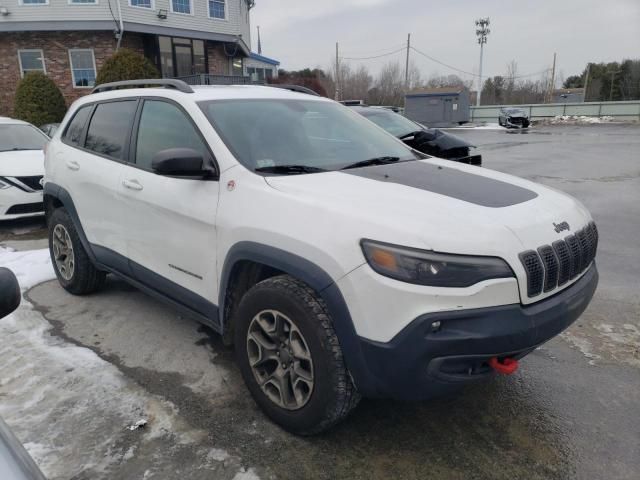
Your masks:
<path fill-rule="evenodd" d="M 140 116 L 136 165 L 151 170 L 153 156 L 168 148 L 192 148 L 210 157 L 207 147 L 193 124 L 175 105 L 146 100 Z"/>

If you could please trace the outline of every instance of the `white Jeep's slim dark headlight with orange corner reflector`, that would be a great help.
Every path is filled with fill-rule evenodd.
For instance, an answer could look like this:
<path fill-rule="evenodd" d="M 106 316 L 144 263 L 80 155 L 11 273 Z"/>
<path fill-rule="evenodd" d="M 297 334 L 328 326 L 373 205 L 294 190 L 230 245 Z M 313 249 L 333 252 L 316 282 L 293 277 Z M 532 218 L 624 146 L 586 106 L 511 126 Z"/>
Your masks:
<path fill-rule="evenodd" d="M 362 251 L 376 272 L 403 282 L 431 287 L 469 287 L 491 278 L 512 278 L 501 258 L 437 253 L 362 240 Z"/>

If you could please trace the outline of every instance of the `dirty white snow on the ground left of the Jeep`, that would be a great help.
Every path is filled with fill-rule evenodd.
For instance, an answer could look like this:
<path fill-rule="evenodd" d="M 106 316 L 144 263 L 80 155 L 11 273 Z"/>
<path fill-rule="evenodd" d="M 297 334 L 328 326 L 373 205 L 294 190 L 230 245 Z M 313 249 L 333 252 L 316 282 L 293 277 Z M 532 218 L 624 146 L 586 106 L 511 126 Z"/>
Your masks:
<path fill-rule="evenodd" d="M 55 278 L 48 250 L 0 247 L 0 266 L 13 270 L 23 292 Z M 26 300 L 0 320 L 0 416 L 47 478 L 133 478 L 122 476 L 127 462 L 140 478 L 176 478 L 167 474 L 170 459 L 161 453 L 167 448 L 201 459 L 184 478 L 258 478 L 222 449 L 199 443 L 194 453 L 206 432 L 186 425 L 172 403 L 90 349 L 52 336 L 51 328 Z M 140 420 L 146 425 L 128 428 Z M 136 459 L 142 452 L 144 462 Z"/>

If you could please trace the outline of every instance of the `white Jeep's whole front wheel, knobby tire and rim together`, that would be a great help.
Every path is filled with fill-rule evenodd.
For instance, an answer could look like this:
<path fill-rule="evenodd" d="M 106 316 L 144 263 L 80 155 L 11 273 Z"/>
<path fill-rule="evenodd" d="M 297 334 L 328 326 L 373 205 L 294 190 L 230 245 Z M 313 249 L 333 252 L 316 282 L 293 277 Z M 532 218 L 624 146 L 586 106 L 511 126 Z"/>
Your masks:
<path fill-rule="evenodd" d="M 360 399 L 323 300 L 282 275 L 242 298 L 235 315 L 236 358 L 251 395 L 284 429 L 319 433 Z"/>

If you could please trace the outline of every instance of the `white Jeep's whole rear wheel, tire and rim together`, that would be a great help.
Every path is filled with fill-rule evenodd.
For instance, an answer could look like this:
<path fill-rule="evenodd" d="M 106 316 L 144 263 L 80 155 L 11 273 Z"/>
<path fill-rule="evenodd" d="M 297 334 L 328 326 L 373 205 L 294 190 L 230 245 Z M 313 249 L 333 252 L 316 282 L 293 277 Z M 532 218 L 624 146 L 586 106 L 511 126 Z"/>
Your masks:
<path fill-rule="evenodd" d="M 96 269 L 87 255 L 67 211 L 58 208 L 49 219 L 49 253 L 60 285 L 74 295 L 98 290 L 106 273 Z"/>

